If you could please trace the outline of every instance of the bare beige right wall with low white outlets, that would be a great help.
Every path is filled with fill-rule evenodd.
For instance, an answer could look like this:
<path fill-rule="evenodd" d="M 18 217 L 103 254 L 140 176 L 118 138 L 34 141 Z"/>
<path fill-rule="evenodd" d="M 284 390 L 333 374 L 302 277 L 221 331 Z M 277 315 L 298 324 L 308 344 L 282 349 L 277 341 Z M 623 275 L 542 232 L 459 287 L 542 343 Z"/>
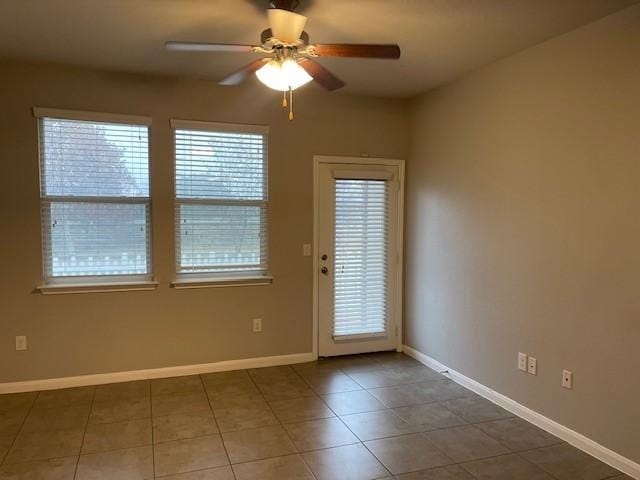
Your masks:
<path fill-rule="evenodd" d="M 639 59 L 636 6 L 416 100 L 405 284 L 408 345 L 636 462 Z"/>

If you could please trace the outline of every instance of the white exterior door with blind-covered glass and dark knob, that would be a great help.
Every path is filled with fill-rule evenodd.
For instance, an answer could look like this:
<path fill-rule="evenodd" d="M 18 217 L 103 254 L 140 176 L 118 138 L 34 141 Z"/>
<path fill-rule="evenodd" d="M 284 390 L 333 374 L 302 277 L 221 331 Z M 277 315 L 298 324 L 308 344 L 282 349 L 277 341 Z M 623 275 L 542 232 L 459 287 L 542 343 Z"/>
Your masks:
<path fill-rule="evenodd" d="M 318 354 L 396 349 L 399 165 L 319 163 L 317 172 Z"/>

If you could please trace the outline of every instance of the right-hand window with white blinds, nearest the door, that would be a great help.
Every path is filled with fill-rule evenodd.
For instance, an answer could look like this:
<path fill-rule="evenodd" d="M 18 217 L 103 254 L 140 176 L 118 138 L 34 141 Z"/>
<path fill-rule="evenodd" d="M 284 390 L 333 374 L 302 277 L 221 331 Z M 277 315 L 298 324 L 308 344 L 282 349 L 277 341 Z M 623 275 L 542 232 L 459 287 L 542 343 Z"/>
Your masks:
<path fill-rule="evenodd" d="M 172 121 L 176 271 L 266 276 L 267 127 Z"/>

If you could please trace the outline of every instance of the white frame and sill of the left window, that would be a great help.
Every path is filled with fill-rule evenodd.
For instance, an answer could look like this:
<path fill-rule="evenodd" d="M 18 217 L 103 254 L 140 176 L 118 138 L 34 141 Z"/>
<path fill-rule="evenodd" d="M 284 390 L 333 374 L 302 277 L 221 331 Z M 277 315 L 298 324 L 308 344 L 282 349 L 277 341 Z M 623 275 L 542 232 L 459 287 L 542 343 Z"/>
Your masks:
<path fill-rule="evenodd" d="M 38 174 L 39 174 L 39 205 L 41 231 L 41 260 L 42 284 L 36 291 L 43 294 L 62 293 L 93 293 L 108 291 L 140 291 L 155 290 L 158 283 L 154 281 L 153 265 L 153 210 L 152 210 L 152 162 L 151 162 L 151 117 L 141 115 L 126 115 L 103 112 L 89 112 L 79 110 L 62 110 L 54 108 L 33 108 L 33 115 L 37 121 L 38 145 Z M 93 123 L 111 123 L 120 125 L 135 125 L 147 128 L 147 195 L 144 197 L 129 196 L 80 196 L 80 195 L 47 195 L 44 191 L 45 171 L 44 152 L 42 151 L 43 122 L 45 119 L 71 120 Z M 143 205 L 146 210 L 146 261 L 147 272 L 142 274 L 104 274 L 78 275 L 55 277 L 50 271 L 52 260 L 47 257 L 47 247 L 51 245 L 51 229 L 44 227 L 45 209 L 51 208 L 55 202 L 89 203 L 106 205 Z"/>

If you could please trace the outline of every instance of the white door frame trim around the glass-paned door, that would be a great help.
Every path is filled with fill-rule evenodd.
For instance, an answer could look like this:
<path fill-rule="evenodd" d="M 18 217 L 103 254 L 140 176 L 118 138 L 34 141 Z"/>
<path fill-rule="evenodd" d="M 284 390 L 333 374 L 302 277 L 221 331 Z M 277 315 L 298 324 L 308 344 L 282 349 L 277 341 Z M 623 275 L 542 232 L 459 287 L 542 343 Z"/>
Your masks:
<path fill-rule="evenodd" d="M 314 155 L 313 157 L 313 358 L 318 358 L 318 329 L 320 319 L 318 314 L 319 304 L 319 178 L 318 170 L 321 164 L 339 163 L 346 165 L 391 165 L 398 167 L 398 215 L 397 215 L 397 269 L 396 269 L 396 307 L 393 312 L 393 324 L 396 328 L 396 351 L 402 351 L 402 307 L 404 300 L 404 160 L 395 158 L 374 157 L 335 157 L 328 155 Z"/>

